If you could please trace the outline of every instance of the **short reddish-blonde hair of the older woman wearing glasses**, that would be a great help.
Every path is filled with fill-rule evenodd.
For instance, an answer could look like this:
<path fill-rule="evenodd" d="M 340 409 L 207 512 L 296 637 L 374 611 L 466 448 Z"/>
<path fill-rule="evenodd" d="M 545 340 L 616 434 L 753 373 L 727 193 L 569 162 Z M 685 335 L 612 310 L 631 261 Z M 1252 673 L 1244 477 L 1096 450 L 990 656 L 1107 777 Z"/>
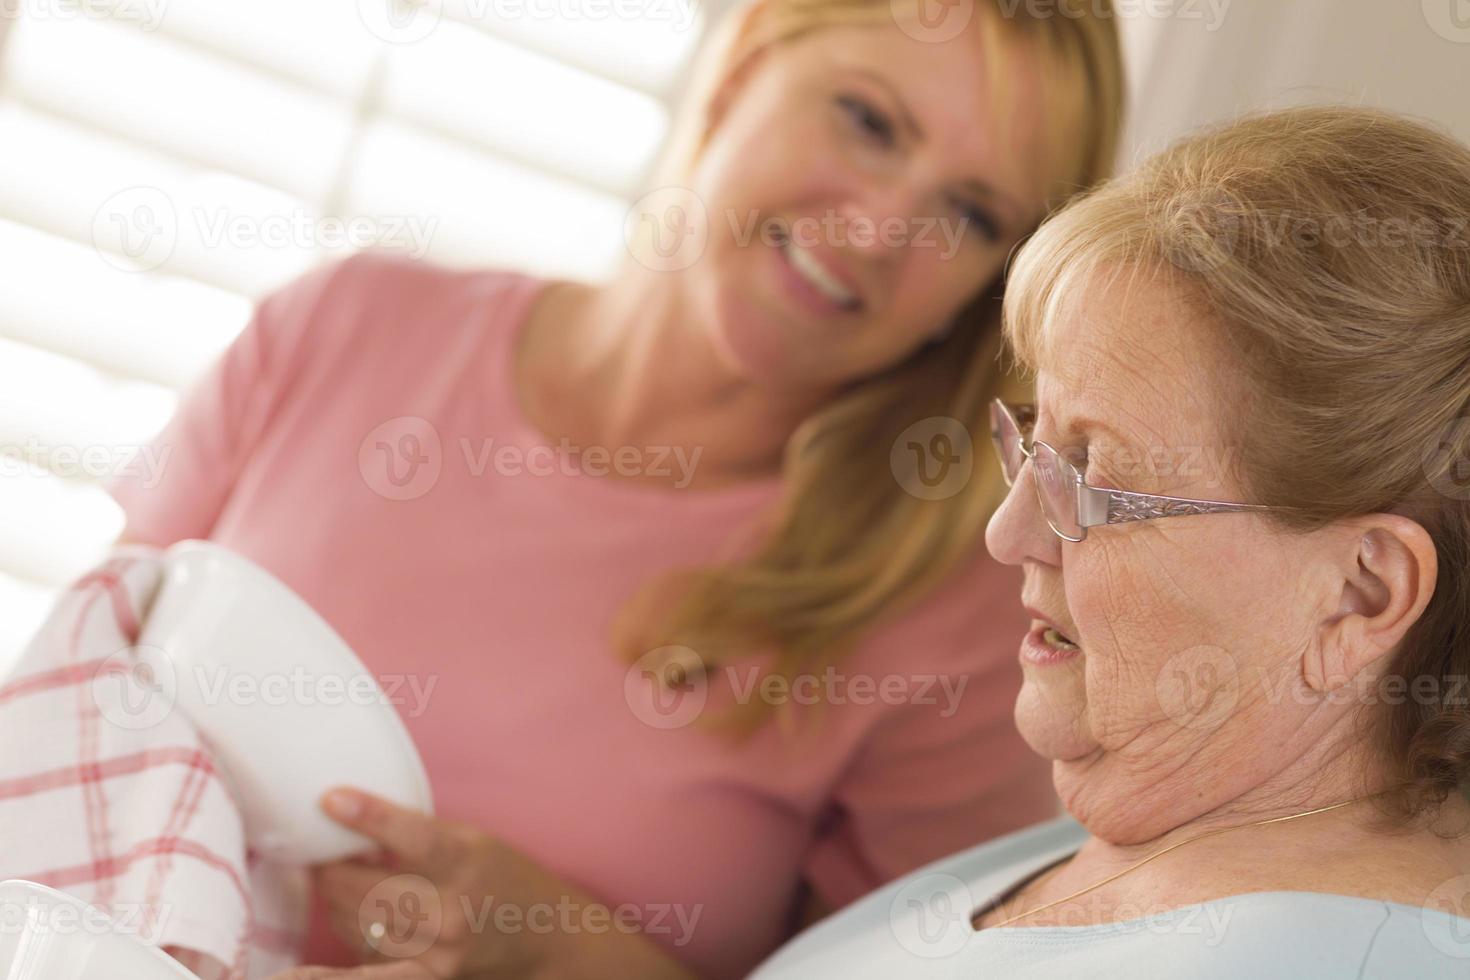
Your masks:
<path fill-rule="evenodd" d="M 1470 485 L 1452 469 L 1470 458 L 1467 216 L 1470 148 L 1385 112 L 1292 109 L 1075 201 L 1017 253 L 1005 297 L 1007 339 L 1035 369 L 1095 272 L 1180 284 L 1245 378 L 1227 428 L 1247 498 L 1295 508 L 1270 514 L 1295 530 L 1392 511 L 1429 532 L 1435 594 L 1391 673 L 1441 696 L 1370 716 L 1402 818 L 1470 774 L 1470 692 L 1452 702 L 1470 674 Z"/>

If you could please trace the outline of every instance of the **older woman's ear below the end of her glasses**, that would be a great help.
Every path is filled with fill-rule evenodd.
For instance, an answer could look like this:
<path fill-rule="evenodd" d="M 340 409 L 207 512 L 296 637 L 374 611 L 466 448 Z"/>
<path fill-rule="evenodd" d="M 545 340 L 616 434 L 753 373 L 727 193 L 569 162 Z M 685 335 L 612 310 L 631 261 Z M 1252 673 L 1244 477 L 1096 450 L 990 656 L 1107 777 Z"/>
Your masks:
<path fill-rule="evenodd" d="M 1344 536 L 1339 599 L 1307 651 L 1302 676 L 1329 693 L 1392 654 L 1429 605 L 1439 574 L 1435 542 L 1399 514 L 1366 514 L 1339 525 Z M 1377 666 L 1388 670 L 1388 661 Z"/>

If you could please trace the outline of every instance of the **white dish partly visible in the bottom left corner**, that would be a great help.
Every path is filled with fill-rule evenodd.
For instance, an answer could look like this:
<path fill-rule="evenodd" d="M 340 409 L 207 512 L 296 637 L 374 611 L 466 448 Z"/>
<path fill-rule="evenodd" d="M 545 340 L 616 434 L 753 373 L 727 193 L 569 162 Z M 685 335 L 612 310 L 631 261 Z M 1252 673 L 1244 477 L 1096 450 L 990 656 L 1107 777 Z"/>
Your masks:
<path fill-rule="evenodd" d="M 0 980 L 198 980 L 66 892 L 0 882 Z"/>

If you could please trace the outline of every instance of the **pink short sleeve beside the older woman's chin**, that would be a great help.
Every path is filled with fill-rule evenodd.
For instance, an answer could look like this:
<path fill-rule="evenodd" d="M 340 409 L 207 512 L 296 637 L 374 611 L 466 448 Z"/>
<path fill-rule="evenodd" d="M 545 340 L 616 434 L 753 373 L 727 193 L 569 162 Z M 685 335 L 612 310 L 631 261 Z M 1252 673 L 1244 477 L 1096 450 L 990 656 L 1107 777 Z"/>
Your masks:
<path fill-rule="evenodd" d="M 838 782 L 803 871 L 832 908 L 1058 813 L 1051 765 L 1020 738 L 1019 576 L 989 558 L 875 638 L 906 696 Z M 926 688 L 928 685 L 928 688 Z"/>

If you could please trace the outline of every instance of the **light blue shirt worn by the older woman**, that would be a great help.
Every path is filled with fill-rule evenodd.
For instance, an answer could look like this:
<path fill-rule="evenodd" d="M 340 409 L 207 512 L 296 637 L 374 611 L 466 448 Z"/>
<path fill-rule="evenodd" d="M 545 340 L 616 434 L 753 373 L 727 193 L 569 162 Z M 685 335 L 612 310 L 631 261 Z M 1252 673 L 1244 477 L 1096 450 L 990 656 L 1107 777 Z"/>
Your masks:
<path fill-rule="evenodd" d="M 1101 926 L 970 927 L 976 908 L 1086 836 L 1063 817 L 935 861 L 801 933 L 751 979 L 1470 979 L 1470 918 L 1320 892 L 1138 909 Z M 1470 876 L 1463 884 L 1470 892 Z"/>

